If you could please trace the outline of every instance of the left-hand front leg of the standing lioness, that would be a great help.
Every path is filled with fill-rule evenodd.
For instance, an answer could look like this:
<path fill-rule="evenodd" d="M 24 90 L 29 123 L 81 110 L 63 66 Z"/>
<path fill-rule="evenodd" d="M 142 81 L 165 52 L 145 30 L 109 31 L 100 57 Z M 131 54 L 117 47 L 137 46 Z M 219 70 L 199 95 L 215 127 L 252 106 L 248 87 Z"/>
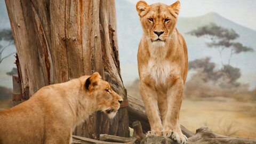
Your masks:
<path fill-rule="evenodd" d="M 162 135 L 162 123 L 158 115 L 157 93 L 153 85 L 146 85 L 143 81 L 140 82 L 140 95 L 145 105 L 145 110 L 148 116 L 150 129 L 147 137 L 150 135 Z"/>

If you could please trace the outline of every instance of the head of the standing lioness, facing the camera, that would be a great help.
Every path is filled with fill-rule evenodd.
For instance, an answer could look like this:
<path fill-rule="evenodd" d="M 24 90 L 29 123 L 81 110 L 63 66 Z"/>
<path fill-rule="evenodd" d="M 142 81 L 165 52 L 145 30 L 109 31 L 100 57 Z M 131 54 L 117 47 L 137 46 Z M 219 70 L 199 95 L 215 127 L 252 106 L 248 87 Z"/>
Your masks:
<path fill-rule="evenodd" d="M 171 40 L 170 36 L 175 28 L 180 10 L 179 1 L 172 5 L 162 3 L 148 5 L 144 1 L 139 1 L 136 9 L 143 31 L 151 43 L 163 45 L 166 41 Z"/>

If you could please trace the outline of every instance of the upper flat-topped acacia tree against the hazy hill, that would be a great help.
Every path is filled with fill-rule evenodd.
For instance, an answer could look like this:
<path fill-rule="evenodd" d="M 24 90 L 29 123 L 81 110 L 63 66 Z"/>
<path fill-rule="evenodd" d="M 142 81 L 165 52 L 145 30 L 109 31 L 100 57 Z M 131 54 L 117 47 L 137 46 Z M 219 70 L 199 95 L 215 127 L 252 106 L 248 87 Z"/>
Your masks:
<path fill-rule="evenodd" d="M 194 35 L 196 37 L 206 37 L 210 42 L 206 42 L 207 46 L 213 47 L 218 50 L 222 67 L 225 66 L 222 59 L 222 52 L 225 49 L 230 49 L 230 56 L 226 65 L 230 65 L 230 60 L 233 54 L 238 54 L 241 52 L 252 52 L 251 47 L 244 46 L 239 42 L 234 42 L 235 39 L 239 37 L 233 29 L 227 29 L 217 26 L 215 23 L 210 23 L 209 25 L 198 27 L 195 30 L 190 31 L 188 34 Z"/>

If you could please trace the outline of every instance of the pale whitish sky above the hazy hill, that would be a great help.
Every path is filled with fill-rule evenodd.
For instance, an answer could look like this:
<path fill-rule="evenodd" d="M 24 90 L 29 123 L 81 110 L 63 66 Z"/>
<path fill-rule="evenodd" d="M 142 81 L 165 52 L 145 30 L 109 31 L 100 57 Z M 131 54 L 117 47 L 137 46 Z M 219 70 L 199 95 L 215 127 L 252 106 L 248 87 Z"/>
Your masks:
<path fill-rule="evenodd" d="M 136 4 L 138 0 L 129 1 Z M 145 0 L 148 4 L 164 3 L 171 5 L 176 0 Z M 217 12 L 222 17 L 239 25 L 256 30 L 256 1 L 255 0 L 180 0 L 180 17 L 196 17 L 208 12 Z"/>

